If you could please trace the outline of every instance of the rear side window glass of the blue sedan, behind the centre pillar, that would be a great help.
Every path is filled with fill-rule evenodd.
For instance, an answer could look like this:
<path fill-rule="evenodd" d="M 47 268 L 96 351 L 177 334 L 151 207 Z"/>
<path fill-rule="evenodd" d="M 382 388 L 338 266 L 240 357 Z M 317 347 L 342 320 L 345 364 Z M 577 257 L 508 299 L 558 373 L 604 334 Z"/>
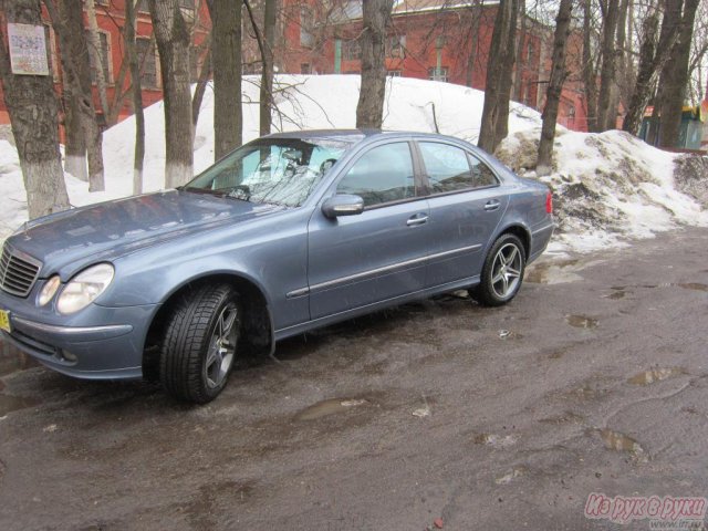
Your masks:
<path fill-rule="evenodd" d="M 435 142 L 420 142 L 418 145 L 433 194 L 497 184 L 494 174 L 485 163 L 459 147 Z"/>

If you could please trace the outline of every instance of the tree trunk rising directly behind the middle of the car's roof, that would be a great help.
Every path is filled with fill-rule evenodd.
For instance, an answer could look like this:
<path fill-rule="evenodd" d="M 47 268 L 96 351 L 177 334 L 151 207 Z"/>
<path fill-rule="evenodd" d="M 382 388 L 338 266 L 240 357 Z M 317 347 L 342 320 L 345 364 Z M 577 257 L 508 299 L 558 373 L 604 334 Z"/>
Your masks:
<path fill-rule="evenodd" d="M 379 129 L 386 96 L 386 27 L 394 0 L 364 2 L 362 43 L 362 86 L 356 105 L 356 127 Z"/>

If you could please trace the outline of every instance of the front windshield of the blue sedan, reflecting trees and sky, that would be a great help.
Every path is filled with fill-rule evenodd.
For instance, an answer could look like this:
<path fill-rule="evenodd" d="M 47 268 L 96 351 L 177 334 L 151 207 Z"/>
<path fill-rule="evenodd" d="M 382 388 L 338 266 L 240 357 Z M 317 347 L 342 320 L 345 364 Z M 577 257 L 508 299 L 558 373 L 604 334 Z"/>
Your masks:
<path fill-rule="evenodd" d="M 251 202 L 298 207 L 356 137 L 263 138 L 205 170 L 184 189 Z"/>

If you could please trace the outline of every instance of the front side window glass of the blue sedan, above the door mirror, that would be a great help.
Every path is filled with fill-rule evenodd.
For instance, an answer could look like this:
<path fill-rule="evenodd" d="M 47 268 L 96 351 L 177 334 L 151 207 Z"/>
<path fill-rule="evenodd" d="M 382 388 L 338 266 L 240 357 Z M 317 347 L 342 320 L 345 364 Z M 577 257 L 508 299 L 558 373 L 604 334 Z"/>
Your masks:
<path fill-rule="evenodd" d="M 413 160 L 407 142 L 374 147 L 342 178 L 337 194 L 354 194 L 371 207 L 416 196 Z"/>

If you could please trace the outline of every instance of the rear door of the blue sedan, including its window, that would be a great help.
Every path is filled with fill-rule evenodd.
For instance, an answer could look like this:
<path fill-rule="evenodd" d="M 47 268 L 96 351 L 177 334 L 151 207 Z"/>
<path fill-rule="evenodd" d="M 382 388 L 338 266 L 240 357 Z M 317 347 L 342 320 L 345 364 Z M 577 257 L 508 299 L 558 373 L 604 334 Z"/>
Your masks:
<path fill-rule="evenodd" d="M 478 275 L 487 242 L 507 209 L 508 192 L 487 164 L 457 145 L 419 140 L 417 149 L 430 194 L 426 287 Z"/>

